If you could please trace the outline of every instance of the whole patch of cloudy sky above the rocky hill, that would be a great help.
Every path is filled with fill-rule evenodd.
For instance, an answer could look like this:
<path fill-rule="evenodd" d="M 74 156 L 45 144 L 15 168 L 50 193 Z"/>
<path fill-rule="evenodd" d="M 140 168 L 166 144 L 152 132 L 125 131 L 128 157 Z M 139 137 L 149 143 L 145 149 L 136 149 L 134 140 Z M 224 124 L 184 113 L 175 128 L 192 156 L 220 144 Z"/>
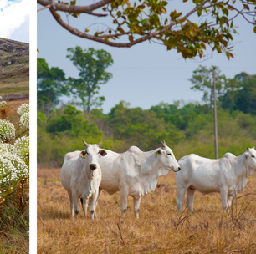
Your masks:
<path fill-rule="evenodd" d="M 29 0 L 0 0 L 0 38 L 29 42 Z"/>

